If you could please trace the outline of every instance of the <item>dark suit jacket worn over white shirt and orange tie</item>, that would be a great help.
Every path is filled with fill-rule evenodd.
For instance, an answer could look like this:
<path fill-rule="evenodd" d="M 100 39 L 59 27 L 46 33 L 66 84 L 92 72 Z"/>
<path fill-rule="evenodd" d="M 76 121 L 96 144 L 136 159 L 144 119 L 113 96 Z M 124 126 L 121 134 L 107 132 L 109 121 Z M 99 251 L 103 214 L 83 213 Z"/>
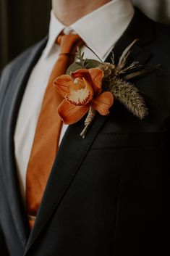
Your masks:
<path fill-rule="evenodd" d="M 136 10 L 114 47 L 116 59 L 135 38 L 139 41 L 129 63 L 161 64 L 161 70 L 132 80 L 145 98 L 148 117 L 138 120 L 114 102 L 111 114 L 98 115 L 85 139 L 80 137 L 84 118 L 69 125 L 31 234 L 13 138 L 27 79 L 47 38 L 5 68 L 0 87 L 1 255 L 167 255 L 170 30 Z"/>

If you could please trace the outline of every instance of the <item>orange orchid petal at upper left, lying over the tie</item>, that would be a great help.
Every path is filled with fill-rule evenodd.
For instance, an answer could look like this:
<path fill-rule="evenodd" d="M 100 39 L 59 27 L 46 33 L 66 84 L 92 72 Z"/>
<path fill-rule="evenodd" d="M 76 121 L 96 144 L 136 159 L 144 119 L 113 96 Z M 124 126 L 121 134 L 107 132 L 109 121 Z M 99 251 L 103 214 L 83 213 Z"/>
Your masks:
<path fill-rule="evenodd" d="M 69 86 L 73 83 L 70 75 L 60 75 L 54 80 L 54 87 L 59 94 L 65 97 L 69 93 Z"/>

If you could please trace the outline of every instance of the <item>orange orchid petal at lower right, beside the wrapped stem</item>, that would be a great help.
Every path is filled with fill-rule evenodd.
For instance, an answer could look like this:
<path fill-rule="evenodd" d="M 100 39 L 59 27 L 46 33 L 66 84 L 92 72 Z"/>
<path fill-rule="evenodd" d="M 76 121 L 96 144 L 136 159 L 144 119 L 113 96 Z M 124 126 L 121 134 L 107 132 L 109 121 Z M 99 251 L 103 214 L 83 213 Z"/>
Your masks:
<path fill-rule="evenodd" d="M 108 115 L 109 108 L 114 104 L 114 96 L 110 91 L 104 91 L 96 99 L 93 99 L 91 106 L 101 115 Z"/>

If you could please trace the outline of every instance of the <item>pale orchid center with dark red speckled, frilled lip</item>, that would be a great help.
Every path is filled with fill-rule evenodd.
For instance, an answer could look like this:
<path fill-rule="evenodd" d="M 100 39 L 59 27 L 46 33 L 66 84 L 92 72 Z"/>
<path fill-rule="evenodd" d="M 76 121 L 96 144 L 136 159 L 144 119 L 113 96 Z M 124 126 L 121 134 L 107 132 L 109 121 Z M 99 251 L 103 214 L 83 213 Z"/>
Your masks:
<path fill-rule="evenodd" d="M 74 83 L 69 86 L 67 101 L 75 106 L 84 106 L 93 99 L 93 89 L 85 78 L 75 78 Z"/>

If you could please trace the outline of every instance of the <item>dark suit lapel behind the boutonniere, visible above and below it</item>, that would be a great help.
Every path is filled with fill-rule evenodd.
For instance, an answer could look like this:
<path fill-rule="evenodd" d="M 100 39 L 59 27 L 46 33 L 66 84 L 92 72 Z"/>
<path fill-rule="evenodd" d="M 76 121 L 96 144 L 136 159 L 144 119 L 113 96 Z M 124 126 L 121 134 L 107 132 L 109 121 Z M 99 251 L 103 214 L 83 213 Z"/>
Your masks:
<path fill-rule="evenodd" d="M 145 24 L 141 25 L 141 22 Z M 136 28 L 137 23 L 141 26 L 140 31 Z M 136 10 L 135 17 L 132 19 L 132 22 L 126 32 L 122 38 L 119 39 L 114 48 L 116 61 L 122 54 L 122 51 L 132 43 L 135 38 L 139 38 L 139 44 L 134 46 L 132 49 L 131 59 L 129 61 L 131 62 L 140 58 L 140 64 L 144 65 L 150 57 L 150 53 L 143 50 L 140 46 L 153 40 L 153 28 L 151 27 L 152 26 L 150 25 L 148 18 Z M 145 28 L 147 28 L 147 32 Z M 148 38 L 145 37 L 146 34 Z M 106 61 L 109 61 L 110 57 L 111 55 L 106 59 Z M 72 183 L 82 161 L 90 149 L 91 144 L 93 144 L 95 137 L 106 122 L 106 119 L 107 117 L 98 115 L 85 139 L 80 137 L 80 132 L 84 125 L 84 119 L 74 125 L 69 125 L 69 128 L 67 128 L 67 131 L 64 134 L 64 139 L 61 141 L 61 146 L 59 147 L 59 152 L 57 153 L 54 166 L 51 170 L 51 175 L 48 179 L 41 207 L 35 221 L 35 226 L 27 242 L 25 255 L 33 245 L 35 239 L 37 239 L 39 234 L 41 234 L 41 231 L 43 231 L 44 226 L 48 223 L 48 220 L 51 218 L 54 210 L 59 207 L 64 194 L 67 192 L 69 185 Z"/>

